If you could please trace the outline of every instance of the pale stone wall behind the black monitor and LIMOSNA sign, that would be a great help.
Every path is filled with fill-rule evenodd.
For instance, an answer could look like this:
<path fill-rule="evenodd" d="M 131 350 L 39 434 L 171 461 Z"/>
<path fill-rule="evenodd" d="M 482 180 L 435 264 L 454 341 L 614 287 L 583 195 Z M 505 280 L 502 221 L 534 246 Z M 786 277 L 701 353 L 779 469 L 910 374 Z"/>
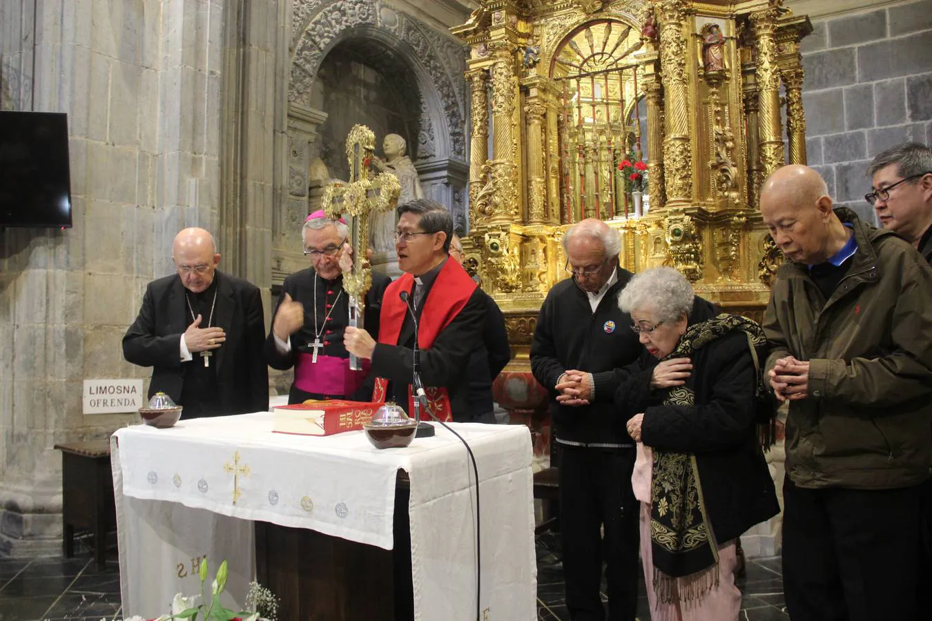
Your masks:
<path fill-rule="evenodd" d="M 74 209 L 69 230 L 0 235 L 0 556 L 59 552 L 54 444 L 103 439 L 133 419 L 83 415 L 82 381 L 148 376 L 123 360 L 120 342 L 146 282 L 172 273 L 177 231 L 234 222 L 241 233 L 219 250 L 240 257 L 234 272 L 263 271 L 268 286 L 282 6 L 0 4 L 0 107 L 68 114 Z M 243 33 L 241 47 L 227 45 Z M 234 95 L 250 97 L 227 107 L 224 63 L 240 57 Z M 223 203 L 222 179 L 237 189 Z M 261 261 L 242 260 L 253 247 Z"/>

